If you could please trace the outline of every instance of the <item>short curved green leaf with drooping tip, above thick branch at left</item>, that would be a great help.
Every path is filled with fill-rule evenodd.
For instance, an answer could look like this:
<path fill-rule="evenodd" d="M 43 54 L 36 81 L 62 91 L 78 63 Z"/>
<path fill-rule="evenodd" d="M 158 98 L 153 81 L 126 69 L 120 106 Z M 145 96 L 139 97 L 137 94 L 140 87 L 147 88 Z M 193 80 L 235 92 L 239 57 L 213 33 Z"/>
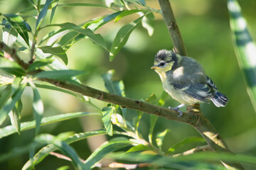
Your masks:
<path fill-rule="evenodd" d="M 63 62 L 66 65 L 68 64 L 68 57 L 62 47 L 43 46 L 38 48 L 40 48 L 44 53 L 48 53 L 48 54 L 60 57 L 60 59 L 63 60 Z"/>

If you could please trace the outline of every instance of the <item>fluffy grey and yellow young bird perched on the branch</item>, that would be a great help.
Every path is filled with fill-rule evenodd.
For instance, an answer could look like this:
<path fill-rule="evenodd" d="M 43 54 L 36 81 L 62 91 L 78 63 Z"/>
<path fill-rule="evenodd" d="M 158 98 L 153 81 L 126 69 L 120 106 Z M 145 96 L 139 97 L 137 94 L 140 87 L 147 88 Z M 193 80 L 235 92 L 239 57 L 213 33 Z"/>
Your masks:
<path fill-rule="evenodd" d="M 217 107 L 225 107 L 228 97 L 218 92 L 213 81 L 206 76 L 201 64 L 190 57 L 183 57 L 171 50 L 160 50 L 151 67 L 160 76 L 164 90 L 181 105 L 171 108 L 178 113 L 183 106 L 195 103 L 210 103 Z"/>

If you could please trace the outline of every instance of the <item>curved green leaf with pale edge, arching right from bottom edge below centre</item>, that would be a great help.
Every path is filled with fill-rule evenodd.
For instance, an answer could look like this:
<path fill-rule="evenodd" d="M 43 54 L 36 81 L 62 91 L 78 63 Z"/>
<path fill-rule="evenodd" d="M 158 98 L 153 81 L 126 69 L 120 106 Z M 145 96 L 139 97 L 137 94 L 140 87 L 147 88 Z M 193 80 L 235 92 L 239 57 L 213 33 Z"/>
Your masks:
<path fill-rule="evenodd" d="M 100 160 L 105 157 L 106 154 L 114 152 L 118 149 L 122 149 L 124 147 L 128 147 L 130 145 L 132 145 L 132 142 L 130 142 L 129 140 L 124 140 L 123 137 L 103 143 L 102 145 L 100 145 L 100 147 L 95 149 L 90 157 L 86 159 L 85 168 L 92 169 L 95 164 L 97 164 L 97 162 L 100 162 Z"/>

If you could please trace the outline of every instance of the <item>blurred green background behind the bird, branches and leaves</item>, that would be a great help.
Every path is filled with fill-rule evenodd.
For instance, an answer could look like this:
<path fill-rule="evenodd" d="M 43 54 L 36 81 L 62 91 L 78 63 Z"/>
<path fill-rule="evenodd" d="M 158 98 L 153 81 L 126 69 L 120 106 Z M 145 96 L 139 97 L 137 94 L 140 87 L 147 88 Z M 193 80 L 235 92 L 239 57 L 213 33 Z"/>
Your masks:
<path fill-rule="evenodd" d="M 62 1 L 75 2 L 75 1 Z M 79 1 L 90 3 L 102 3 L 102 1 Z M 243 15 L 247 19 L 248 27 L 252 38 L 256 40 L 256 1 L 239 1 Z M 158 1 L 146 0 L 147 6 L 159 8 Z M 172 8 L 176 16 L 176 21 L 181 31 L 183 41 L 186 45 L 188 56 L 195 58 L 206 69 L 208 76 L 215 81 L 220 91 L 230 98 L 228 106 L 216 108 L 213 103 L 202 104 L 203 113 L 209 118 L 215 129 L 228 143 L 233 152 L 250 154 L 256 156 L 256 114 L 252 108 L 252 103 L 247 95 L 246 84 L 238 67 L 237 58 L 233 48 L 233 40 L 230 33 L 229 16 L 226 1 L 215 0 L 171 0 Z M 30 6 L 26 0 L 1 0 L 1 13 L 17 13 Z M 132 7 L 132 6 L 131 6 Z M 97 18 L 112 11 L 105 8 L 93 7 L 58 7 L 52 23 L 85 23 L 92 18 Z M 110 47 L 114 35 L 119 28 L 124 26 L 138 15 L 124 17 L 117 23 L 113 21 L 103 26 L 96 33 L 102 34 Z M 116 70 L 115 79 L 124 81 L 125 93 L 129 98 L 147 98 L 151 94 L 156 94 L 159 98 L 163 91 L 159 75 L 150 69 L 154 62 L 154 55 L 161 49 L 172 49 L 171 39 L 160 14 L 155 14 L 154 35 L 149 37 L 147 31 L 139 26 L 130 36 L 127 45 L 119 52 L 117 57 L 109 62 L 109 54 L 106 50 L 84 39 L 76 42 L 67 55 L 69 59 L 68 68 L 83 69 L 88 72 L 84 77 L 80 77 L 83 84 L 92 86 L 95 89 L 105 90 L 101 74 L 109 69 Z M 48 18 L 45 23 L 48 24 Z M 34 28 L 35 19 L 29 19 L 28 23 Z M 39 39 L 55 28 L 45 29 L 41 32 Z M 73 96 L 55 91 L 40 91 L 45 106 L 44 117 L 58 115 L 61 113 L 72 113 L 77 111 L 96 112 L 90 106 L 78 101 Z M 22 121 L 33 120 L 32 112 L 32 91 L 26 89 L 23 94 Z M 98 106 L 104 107 L 107 103 L 93 100 Z M 168 98 L 167 106 L 177 106 L 178 102 Z M 136 111 L 129 111 L 129 120 L 136 116 Z M 4 127 L 9 125 L 6 120 Z M 41 128 L 41 133 L 47 132 L 58 135 L 61 132 L 73 131 L 84 132 L 102 128 L 100 116 L 86 117 L 46 125 Z M 171 120 L 159 118 L 156 123 L 156 132 L 162 132 L 166 128 L 171 131 L 164 140 L 164 149 L 169 149 L 171 145 L 183 140 L 185 137 L 198 136 L 198 132 L 190 125 L 177 123 Z M 141 123 L 141 131 L 147 137 L 149 130 L 149 115 L 144 114 Z M 34 130 L 21 132 L 4 137 L 0 140 L 0 154 L 11 151 L 15 147 L 27 145 L 34 137 Z M 86 159 L 91 152 L 102 142 L 110 137 L 92 137 L 90 140 L 75 142 L 73 146 L 80 157 Z M 196 145 L 187 145 L 183 148 L 190 149 Z M 10 159 L 8 162 L 0 164 L 1 169 L 21 169 L 28 161 L 28 154 L 23 157 Z M 36 169 L 56 169 L 62 165 L 70 165 L 70 162 L 48 156 Z M 72 169 L 72 166 L 70 166 Z"/>

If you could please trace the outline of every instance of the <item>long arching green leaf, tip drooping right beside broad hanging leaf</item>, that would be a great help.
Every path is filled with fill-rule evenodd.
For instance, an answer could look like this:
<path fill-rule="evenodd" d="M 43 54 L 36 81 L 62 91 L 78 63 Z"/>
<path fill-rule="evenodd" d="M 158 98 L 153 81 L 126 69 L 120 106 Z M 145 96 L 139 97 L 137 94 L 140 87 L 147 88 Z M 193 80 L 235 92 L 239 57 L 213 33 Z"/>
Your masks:
<path fill-rule="evenodd" d="M 93 33 L 92 30 L 90 30 L 89 28 L 83 29 L 80 26 L 76 26 L 74 23 L 60 23 L 53 24 L 50 26 L 60 26 L 61 28 L 65 28 L 68 30 L 75 30 L 82 35 L 86 35 L 88 38 L 90 38 L 90 40 L 92 40 L 92 42 L 95 42 L 97 45 L 100 45 L 104 47 L 106 50 L 108 50 L 106 42 L 102 38 L 102 35 Z"/>

